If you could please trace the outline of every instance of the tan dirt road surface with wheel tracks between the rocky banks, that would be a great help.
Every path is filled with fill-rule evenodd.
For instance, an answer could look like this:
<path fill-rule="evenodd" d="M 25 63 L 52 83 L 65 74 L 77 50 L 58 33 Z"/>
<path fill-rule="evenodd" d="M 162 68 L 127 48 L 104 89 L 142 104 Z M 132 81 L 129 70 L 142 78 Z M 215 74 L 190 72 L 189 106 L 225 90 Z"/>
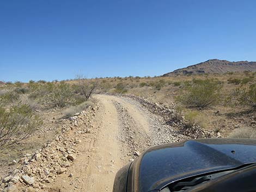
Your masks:
<path fill-rule="evenodd" d="M 109 95 L 95 98 L 100 108 L 90 134 L 77 146 L 81 155 L 52 183 L 52 191 L 112 191 L 122 166 L 150 146 L 175 141 L 172 135 L 178 133 L 139 102 Z"/>

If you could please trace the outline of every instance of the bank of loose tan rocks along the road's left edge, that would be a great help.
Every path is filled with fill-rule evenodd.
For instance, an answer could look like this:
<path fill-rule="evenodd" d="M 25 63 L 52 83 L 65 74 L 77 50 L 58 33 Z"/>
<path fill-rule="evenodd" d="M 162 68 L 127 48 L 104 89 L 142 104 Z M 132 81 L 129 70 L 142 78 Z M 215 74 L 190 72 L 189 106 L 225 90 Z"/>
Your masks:
<path fill-rule="evenodd" d="M 62 134 L 33 154 L 26 154 L 19 161 L 11 162 L 15 166 L 8 176 L 1 179 L 1 191 L 48 191 L 47 184 L 53 183 L 58 175 L 69 171 L 80 151 L 76 150 L 85 135 L 90 133 L 98 106 L 70 117 L 62 126 Z M 70 173 L 72 177 L 72 173 Z"/>

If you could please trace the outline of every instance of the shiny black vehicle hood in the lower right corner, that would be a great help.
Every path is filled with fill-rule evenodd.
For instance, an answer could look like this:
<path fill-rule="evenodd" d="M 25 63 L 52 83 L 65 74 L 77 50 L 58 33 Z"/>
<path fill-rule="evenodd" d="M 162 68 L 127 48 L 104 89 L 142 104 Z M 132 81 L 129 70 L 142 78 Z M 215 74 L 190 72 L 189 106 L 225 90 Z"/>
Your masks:
<path fill-rule="evenodd" d="M 199 139 L 157 146 L 133 162 L 133 189 L 157 191 L 179 179 L 255 162 L 252 139 Z"/>

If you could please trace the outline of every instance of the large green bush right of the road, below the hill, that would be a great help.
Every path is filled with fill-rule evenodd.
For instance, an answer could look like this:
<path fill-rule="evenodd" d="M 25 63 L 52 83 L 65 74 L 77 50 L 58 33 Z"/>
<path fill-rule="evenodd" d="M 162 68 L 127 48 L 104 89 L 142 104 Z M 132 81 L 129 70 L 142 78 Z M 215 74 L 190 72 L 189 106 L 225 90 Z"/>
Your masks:
<path fill-rule="evenodd" d="M 200 79 L 193 81 L 191 85 L 186 85 L 185 93 L 176 99 L 190 107 L 213 106 L 220 100 L 221 87 L 221 84 L 214 79 Z"/>

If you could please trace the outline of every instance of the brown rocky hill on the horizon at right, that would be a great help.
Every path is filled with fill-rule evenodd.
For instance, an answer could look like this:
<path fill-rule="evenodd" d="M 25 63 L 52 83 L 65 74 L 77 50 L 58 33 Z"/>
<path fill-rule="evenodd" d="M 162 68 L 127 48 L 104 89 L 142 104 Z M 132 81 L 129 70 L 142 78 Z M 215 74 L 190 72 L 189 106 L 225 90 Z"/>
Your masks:
<path fill-rule="evenodd" d="M 230 62 L 227 60 L 210 59 L 205 62 L 191 65 L 182 69 L 175 70 L 164 74 L 163 76 L 176 76 L 187 74 L 202 74 L 202 73 L 226 73 L 226 72 L 242 72 L 256 71 L 256 62 L 254 61 L 236 61 Z"/>

